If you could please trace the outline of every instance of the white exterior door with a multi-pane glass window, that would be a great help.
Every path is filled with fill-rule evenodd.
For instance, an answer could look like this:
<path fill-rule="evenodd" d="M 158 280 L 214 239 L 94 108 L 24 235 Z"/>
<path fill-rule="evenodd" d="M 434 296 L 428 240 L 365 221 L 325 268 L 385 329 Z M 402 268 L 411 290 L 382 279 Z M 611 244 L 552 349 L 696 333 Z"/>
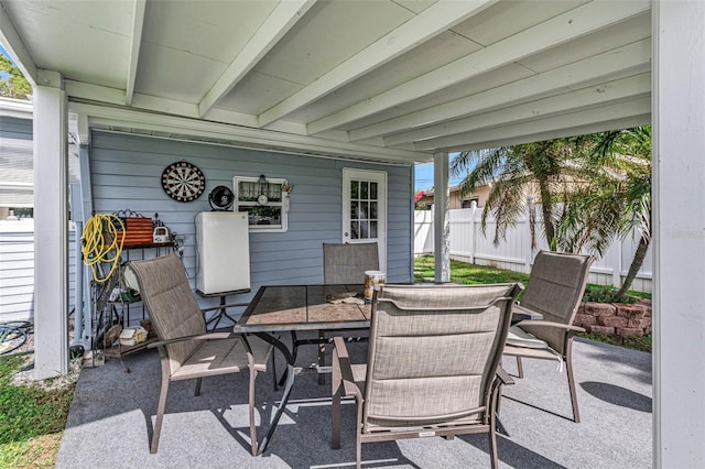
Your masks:
<path fill-rule="evenodd" d="M 377 242 L 387 271 L 387 173 L 343 168 L 343 242 Z"/>

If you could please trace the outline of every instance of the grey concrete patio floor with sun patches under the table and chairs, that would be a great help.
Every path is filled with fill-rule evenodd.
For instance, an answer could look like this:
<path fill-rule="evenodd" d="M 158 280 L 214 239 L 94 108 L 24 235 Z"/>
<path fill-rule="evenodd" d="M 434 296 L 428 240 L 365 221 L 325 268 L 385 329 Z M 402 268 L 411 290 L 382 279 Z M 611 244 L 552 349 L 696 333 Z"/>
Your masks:
<path fill-rule="evenodd" d="M 364 358 L 365 345 L 352 343 Z M 300 350 L 299 364 L 315 360 Z M 355 466 L 355 406 L 344 406 L 343 448 L 330 449 L 329 384 L 296 378 L 292 399 L 262 456 L 252 458 L 247 416 L 247 375 L 171 385 L 159 452 L 149 452 L 160 383 L 159 356 L 149 350 L 82 370 L 57 468 L 330 468 Z M 498 436 L 500 467 L 649 468 L 651 355 L 588 340 L 576 341 L 574 364 L 582 423 L 570 421 L 565 371 L 555 362 L 524 361 L 525 378 L 506 386 Z M 516 372 L 512 359 L 505 368 Z M 278 372 L 283 370 L 278 363 Z M 270 373 L 258 378 L 257 405 L 264 422 L 279 404 Z M 264 435 L 267 424 L 258 427 Z M 445 440 L 421 438 L 362 447 L 365 467 L 489 467 L 486 435 Z"/>

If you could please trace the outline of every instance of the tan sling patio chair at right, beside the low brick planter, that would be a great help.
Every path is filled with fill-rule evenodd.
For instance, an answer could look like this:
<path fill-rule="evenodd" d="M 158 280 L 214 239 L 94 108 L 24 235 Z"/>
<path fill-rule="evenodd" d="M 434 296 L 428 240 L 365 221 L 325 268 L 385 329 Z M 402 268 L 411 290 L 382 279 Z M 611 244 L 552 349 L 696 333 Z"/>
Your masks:
<path fill-rule="evenodd" d="M 575 423 L 581 422 L 581 415 L 573 377 L 573 336 L 585 329 L 573 326 L 573 320 L 594 260 L 592 255 L 540 251 L 514 313 L 539 313 L 543 318 L 521 320 L 513 325 L 505 347 L 506 356 L 517 358 L 519 378 L 524 377 L 523 358 L 556 360 L 561 363 L 561 370 L 562 363 L 565 363 Z"/>

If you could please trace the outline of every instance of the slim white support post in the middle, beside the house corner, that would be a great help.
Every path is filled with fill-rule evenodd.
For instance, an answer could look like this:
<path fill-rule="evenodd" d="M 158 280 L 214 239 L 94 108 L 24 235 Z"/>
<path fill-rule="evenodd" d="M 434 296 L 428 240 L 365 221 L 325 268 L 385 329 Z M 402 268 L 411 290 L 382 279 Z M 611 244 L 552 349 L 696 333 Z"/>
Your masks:
<path fill-rule="evenodd" d="M 448 154 L 433 155 L 433 229 L 436 282 L 451 281 L 451 226 L 448 223 Z"/>

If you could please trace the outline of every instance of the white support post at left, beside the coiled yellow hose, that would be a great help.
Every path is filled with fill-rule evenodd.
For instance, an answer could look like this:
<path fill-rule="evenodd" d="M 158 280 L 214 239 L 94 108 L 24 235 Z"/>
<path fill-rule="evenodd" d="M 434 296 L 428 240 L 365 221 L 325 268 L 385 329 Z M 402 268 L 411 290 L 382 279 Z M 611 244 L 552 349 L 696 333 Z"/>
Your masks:
<path fill-rule="evenodd" d="M 68 372 L 68 148 L 62 76 L 40 70 L 34 103 L 34 378 Z"/>

